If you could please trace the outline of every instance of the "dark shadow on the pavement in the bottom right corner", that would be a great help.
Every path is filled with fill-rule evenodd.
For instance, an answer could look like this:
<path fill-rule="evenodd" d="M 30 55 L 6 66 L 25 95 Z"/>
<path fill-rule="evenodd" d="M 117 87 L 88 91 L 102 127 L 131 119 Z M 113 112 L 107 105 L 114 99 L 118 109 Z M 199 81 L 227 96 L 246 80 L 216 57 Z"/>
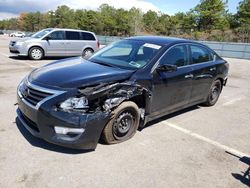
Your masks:
<path fill-rule="evenodd" d="M 227 152 L 226 153 L 234 156 L 234 157 L 237 157 L 239 158 L 239 161 L 245 163 L 246 165 L 248 165 L 248 168 L 246 169 L 245 172 L 241 172 L 241 173 L 232 173 L 232 176 L 237 179 L 238 181 L 240 181 L 241 183 L 243 183 L 244 185 L 250 187 L 250 157 L 239 157 L 237 155 L 234 155 L 230 152 Z"/>

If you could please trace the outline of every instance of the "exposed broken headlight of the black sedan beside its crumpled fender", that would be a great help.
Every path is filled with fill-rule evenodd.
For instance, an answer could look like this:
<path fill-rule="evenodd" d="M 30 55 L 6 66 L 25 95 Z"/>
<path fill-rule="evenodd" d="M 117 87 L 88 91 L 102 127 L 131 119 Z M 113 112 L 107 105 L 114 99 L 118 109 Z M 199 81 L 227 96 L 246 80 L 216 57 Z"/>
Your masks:
<path fill-rule="evenodd" d="M 87 110 L 88 99 L 86 97 L 71 97 L 60 104 L 63 110 Z"/>

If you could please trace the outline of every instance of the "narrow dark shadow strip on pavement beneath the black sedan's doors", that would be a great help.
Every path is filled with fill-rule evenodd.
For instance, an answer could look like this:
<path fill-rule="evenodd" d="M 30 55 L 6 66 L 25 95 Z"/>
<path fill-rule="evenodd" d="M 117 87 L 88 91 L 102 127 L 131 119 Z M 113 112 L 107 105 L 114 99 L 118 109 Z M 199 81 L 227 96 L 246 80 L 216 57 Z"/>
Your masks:
<path fill-rule="evenodd" d="M 186 109 L 183 109 L 183 110 L 180 110 L 180 111 L 177 111 L 177 112 L 174 112 L 174 113 L 162 116 L 160 118 L 157 118 L 155 120 L 152 120 L 152 121 L 148 122 L 144 127 L 139 128 L 138 130 L 142 131 L 143 129 L 151 127 L 151 126 L 153 126 L 153 125 L 155 125 L 157 123 L 160 123 L 161 121 L 165 121 L 167 119 L 171 119 L 171 118 L 179 116 L 181 114 L 185 114 L 187 112 L 198 110 L 198 109 L 200 109 L 200 106 L 199 105 L 195 105 L 195 106 L 191 106 L 191 107 L 188 107 Z"/>

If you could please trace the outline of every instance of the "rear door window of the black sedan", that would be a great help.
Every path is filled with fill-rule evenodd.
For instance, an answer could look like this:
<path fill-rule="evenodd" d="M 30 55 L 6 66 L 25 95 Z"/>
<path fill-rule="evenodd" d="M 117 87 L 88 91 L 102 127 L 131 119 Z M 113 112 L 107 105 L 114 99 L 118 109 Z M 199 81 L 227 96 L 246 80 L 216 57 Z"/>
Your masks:
<path fill-rule="evenodd" d="M 191 50 L 191 57 L 192 57 L 192 64 L 197 63 L 204 63 L 207 61 L 211 61 L 211 54 L 210 52 L 201 46 L 190 46 Z"/>

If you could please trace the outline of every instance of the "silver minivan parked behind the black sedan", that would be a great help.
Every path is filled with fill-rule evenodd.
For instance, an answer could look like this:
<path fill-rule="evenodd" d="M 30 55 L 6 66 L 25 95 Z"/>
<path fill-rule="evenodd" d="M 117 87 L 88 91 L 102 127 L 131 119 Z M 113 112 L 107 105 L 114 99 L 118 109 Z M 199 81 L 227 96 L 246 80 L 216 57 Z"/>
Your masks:
<path fill-rule="evenodd" d="M 11 40 L 9 50 L 19 56 L 40 60 L 45 56 L 91 56 L 99 49 L 99 41 L 93 32 L 48 28 L 29 38 Z"/>

